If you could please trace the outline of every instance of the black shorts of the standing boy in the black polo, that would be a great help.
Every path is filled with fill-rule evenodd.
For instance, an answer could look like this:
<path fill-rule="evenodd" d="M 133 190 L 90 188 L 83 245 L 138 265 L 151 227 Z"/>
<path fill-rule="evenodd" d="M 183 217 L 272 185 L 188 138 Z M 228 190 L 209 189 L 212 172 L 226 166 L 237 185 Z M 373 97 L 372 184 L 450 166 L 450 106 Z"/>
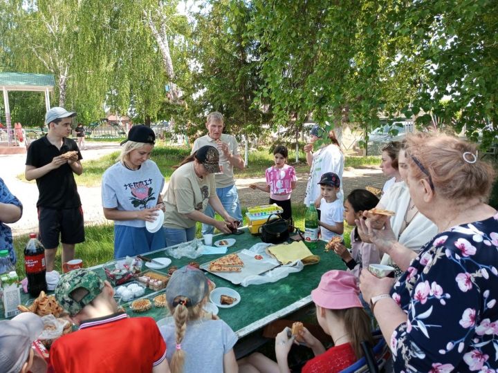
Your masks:
<path fill-rule="evenodd" d="M 48 209 L 38 207 L 38 237 L 45 249 L 56 249 L 59 246 L 59 235 L 62 243 L 73 245 L 84 242 L 83 210 Z"/>

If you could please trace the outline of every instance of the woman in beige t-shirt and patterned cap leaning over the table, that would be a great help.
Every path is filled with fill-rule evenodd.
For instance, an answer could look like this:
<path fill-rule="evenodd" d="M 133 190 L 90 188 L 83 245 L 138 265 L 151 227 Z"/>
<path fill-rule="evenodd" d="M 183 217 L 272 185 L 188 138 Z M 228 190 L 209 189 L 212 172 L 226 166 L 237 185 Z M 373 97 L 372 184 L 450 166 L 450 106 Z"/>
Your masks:
<path fill-rule="evenodd" d="M 216 172 L 220 172 L 219 152 L 210 145 L 202 146 L 186 157 L 174 171 L 165 193 L 163 227 L 167 247 L 192 241 L 196 222 L 212 225 L 223 233 L 231 233 L 230 227 L 237 227 L 237 219 L 228 215 L 216 195 Z M 203 213 L 208 202 L 225 221 Z"/>

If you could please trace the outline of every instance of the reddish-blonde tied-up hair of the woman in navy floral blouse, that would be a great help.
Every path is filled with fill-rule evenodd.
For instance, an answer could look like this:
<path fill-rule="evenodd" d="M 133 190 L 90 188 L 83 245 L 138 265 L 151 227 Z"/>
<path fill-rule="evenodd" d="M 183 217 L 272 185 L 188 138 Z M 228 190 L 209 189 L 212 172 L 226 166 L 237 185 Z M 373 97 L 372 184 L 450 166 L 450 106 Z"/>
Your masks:
<path fill-rule="evenodd" d="M 416 178 L 432 180 L 443 198 L 488 198 L 495 171 L 479 159 L 476 144 L 444 134 L 410 135 L 405 152 L 410 172 Z"/>

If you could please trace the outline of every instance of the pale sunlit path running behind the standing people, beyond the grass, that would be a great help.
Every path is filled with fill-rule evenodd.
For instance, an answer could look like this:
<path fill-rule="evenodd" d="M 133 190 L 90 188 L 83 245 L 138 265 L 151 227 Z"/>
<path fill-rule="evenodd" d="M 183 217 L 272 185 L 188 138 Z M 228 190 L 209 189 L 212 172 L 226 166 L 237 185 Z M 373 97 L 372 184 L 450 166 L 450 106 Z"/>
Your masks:
<path fill-rule="evenodd" d="M 84 160 L 93 160 L 103 155 L 118 151 L 120 145 L 117 142 L 89 142 L 86 144 L 86 150 L 82 151 Z M 12 233 L 15 236 L 37 231 L 38 218 L 36 202 L 38 200 L 38 189 L 35 182 L 21 181 L 17 175 L 24 173 L 26 162 L 25 154 L 16 155 L 0 155 L 0 177 L 6 182 L 6 185 L 14 193 L 24 206 L 24 213 L 18 222 L 9 224 L 12 228 Z M 362 167 L 358 169 L 347 168 L 344 170 L 344 193 L 347 195 L 349 191 L 355 188 L 363 188 L 367 185 L 373 187 L 382 187 L 385 178 L 378 166 Z M 299 181 L 297 189 L 293 191 L 293 201 L 304 200 L 306 191 L 306 173 L 298 175 Z M 268 203 L 269 195 L 262 191 L 253 191 L 249 188 L 249 184 L 254 182 L 264 183 L 265 178 L 247 178 L 236 180 L 237 188 L 239 189 L 239 198 L 242 206 L 256 206 L 258 204 Z M 165 189 L 167 188 L 165 184 Z M 102 212 L 102 202 L 100 199 L 100 187 L 78 187 L 78 192 L 82 200 L 84 220 L 86 225 L 102 224 L 109 222 L 104 218 Z"/>

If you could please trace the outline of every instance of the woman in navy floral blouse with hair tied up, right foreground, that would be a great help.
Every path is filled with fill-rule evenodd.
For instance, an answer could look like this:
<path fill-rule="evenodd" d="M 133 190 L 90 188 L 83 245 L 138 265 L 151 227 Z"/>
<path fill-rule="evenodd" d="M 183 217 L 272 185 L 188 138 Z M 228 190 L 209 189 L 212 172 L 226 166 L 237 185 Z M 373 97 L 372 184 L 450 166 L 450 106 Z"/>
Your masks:
<path fill-rule="evenodd" d="M 389 220 L 358 220 L 403 269 L 390 278 L 363 270 L 360 289 L 391 343 L 396 372 L 495 372 L 498 320 L 498 214 L 483 201 L 492 168 L 475 146 L 446 135 L 409 137 L 409 193 L 439 233 L 421 252 L 397 240 Z"/>

